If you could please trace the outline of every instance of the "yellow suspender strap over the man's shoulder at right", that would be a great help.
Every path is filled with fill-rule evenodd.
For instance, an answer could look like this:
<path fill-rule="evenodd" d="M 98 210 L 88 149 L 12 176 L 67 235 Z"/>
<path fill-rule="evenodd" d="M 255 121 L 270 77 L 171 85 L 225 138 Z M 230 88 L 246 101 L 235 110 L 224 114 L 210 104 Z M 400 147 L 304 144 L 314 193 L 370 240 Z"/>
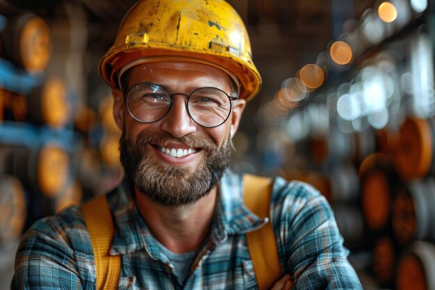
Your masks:
<path fill-rule="evenodd" d="M 265 177 L 245 175 L 244 202 L 260 218 L 269 217 L 272 182 Z M 269 222 L 254 232 L 246 233 L 249 255 L 252 259 L 259 290 L 272 288 L 281 275 L 281 264 L 272 224 Z"/>

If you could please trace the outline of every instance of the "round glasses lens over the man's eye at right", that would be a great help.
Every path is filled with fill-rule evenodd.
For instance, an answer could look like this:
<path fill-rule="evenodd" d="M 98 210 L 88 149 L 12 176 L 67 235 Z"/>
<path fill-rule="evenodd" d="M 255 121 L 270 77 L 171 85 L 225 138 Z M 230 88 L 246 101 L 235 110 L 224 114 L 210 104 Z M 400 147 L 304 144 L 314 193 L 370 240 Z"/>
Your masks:
<path fill-rule="evenodd" d="M 216 127 L 227 120 L 231 101 L 222 90 L 200 88 L 190 95 L 188 108 L 195 122 L 205 127 Z"/>

